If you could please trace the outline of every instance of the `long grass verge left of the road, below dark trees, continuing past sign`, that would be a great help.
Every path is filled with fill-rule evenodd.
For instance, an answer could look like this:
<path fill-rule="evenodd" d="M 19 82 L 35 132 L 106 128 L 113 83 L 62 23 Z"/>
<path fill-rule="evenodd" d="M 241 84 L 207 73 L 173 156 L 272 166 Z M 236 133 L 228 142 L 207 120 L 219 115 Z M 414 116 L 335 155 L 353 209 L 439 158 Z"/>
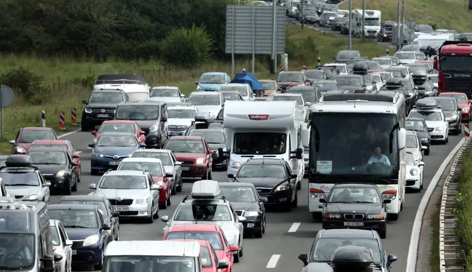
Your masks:
<path fill-rule="evenodd" d="M 312 40 L 312 46 L 304 46 L 304 40 Z M 323 34 L 314 29 L 300 29 L 300 26 L 287 26 L 287 42 L 295 44 L 296 50 L 304 51 L 303 59 L 291 59 L 289 55 L 289 70 L 302 70 L 303 63 L 307 63 L 309 69 L 317 65 L 317 57 L 321 57 L 322 63 L 332 62 L 339 50 L 347 49 L 347 39 Z M 314 46 L 313 46 L 314 45 Z M 313 48 L 314 47 L 314 48 Z M 381 46 L 372 40 L 353 39 L 352 48 L 359 50 L 363 56 L 374 57 L 377 52 L 383 54 L 387 47 Z M 49 85 L 53 90 L 52 99 L 45 105 L 33 106 L 25 104 L 15 92 L 12 105 L 3 111 L 4 139 L 0 141 L 0 153 L 8 154 L 11 145 L 8 141 L 15 139 L 18 129 L 21 127 L 41 126 L 41 110 L 46 112 L 46 127 L 52 127 L 57 133 L 59 129 L 59 113 L 65 112 L 65 127 L 70 129 L 71 108 L 75 107 L 77 112 L 77 123 L 80 123 L 81 113 L 84 105 L 82 99 L 87 99 L 94 79 L 99 74 L 113 73 L 136 73 L 143 75 L 151 86 L 177 86 L 188 95 L 195 91 L 197 81 L 201 73 L 219 71 L 231 75 L 231 63 L 214 61 L 200 65 L 192 70 L 183 70 L 175 67 L 164 66 L 159 61 L 135 61 L 124 62 L 120 60 L 109 60 L 105 63 L 96 63 L 92 60 L 74 60 L 67 57 L 37 58 L 32 56 L 0 55 L 0 74 L 10 69 L 25 67 L 37 75 L 43 76 L 43 87 Z M 275 79 L 268 71 L 268 65 L 262 61 L 256 62 L 255 76 L 259 79 Z M 236 61 L 235 73 L 246 68 L 250 72 L 250 60 Z M 278 71 L 277 71 L 278 72 Z M 74 85 L 73 82 L 75 82 Z M 80 82 L 77 84 L 77 82 Z M 1 84 L 1 82 L 0 82 Z M 40 90 L 38 90 L 39 92 Z M 77 126 L 79 128 L 80 126 Z"/>

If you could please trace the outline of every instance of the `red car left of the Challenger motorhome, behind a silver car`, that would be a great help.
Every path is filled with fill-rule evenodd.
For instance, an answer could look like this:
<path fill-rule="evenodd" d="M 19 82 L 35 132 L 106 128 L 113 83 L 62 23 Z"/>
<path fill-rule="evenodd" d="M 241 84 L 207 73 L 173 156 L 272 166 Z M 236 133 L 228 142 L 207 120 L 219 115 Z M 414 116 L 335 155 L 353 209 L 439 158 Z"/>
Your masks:
<path fill-rule="evenodd" d="M 203 137 L 172 136 L 165 142 L 163 149 L 174 152 L 177 160 L 182 162 L 182 177 L 211 180 L 213 150 L 210 150 Z"/>

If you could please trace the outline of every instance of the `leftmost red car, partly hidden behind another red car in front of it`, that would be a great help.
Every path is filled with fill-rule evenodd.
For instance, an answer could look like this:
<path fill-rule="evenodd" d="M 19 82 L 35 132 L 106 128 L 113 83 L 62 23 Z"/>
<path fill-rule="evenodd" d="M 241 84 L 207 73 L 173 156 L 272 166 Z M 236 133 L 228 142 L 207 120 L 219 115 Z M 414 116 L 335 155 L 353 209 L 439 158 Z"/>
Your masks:
<path fill-rule="evenodd" d="M 20 128 L 15 140 L 11 140 L 12 154 L 26 154 L 35 140 L 57 140 L 57 135 L 50 127 Z"/>

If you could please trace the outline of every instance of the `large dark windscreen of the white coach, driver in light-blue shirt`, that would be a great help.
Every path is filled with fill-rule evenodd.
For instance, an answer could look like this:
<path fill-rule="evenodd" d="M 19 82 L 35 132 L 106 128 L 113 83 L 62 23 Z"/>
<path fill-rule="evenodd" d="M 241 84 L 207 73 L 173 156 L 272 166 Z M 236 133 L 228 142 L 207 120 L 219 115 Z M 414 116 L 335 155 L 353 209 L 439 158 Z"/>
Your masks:
<path fill-rule="evenodd" d="M 393 114 L 314 114 L 311 124 L 310 173 L 320 178 L 354 175 L 398 179 L 397 122 Z M 332 124 L 337 124 L 338 128 L 328 129 Z M 323 179 L 316 181 L 325 182 Z"/>

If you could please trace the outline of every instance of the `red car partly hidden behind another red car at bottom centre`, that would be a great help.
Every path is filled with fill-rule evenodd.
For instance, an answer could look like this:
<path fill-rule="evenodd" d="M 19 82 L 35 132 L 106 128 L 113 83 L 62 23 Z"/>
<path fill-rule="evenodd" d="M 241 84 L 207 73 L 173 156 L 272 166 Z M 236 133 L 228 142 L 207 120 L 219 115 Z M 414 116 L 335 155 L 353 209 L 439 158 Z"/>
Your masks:
<path fill-rule="evenodd" d="M 239 251 L 239 247 L 229 245 L 223 231 L 215 224 L 177 224 L 170 227 L 163 240 L 194 239 L 209 241 L 215 249 L 218 260 L 224 259 L 228 267 L 223 272 L 233 272 L 233 253 Z"/>

